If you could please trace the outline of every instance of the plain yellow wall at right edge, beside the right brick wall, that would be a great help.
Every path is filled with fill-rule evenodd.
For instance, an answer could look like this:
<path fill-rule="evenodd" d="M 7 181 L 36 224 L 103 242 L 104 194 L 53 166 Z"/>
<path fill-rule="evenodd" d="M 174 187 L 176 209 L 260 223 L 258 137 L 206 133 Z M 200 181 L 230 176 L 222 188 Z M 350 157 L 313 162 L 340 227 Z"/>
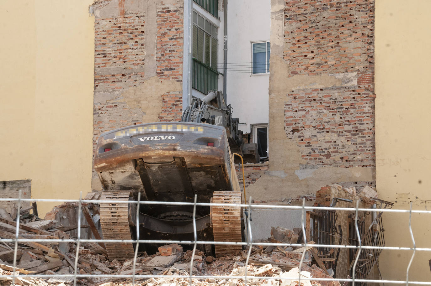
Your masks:
<path fill-rule="evenodd" d="M 377 0 L 376 171 L 379 197 L 394 208 L 431 210 L 431 32 L 428 0 Z M 428 201 L 428 202 L 427 202 Z M 408 214 L 385 214 L 386 246 L 412 247 Z M 431 214 L 412 216 L 417 247 L 431 248 Z M 412 251 L 384 250 L 384 279 L 405 280 Z M 431 281 L 431 252 L 416 252 L 410 281 Z"/>

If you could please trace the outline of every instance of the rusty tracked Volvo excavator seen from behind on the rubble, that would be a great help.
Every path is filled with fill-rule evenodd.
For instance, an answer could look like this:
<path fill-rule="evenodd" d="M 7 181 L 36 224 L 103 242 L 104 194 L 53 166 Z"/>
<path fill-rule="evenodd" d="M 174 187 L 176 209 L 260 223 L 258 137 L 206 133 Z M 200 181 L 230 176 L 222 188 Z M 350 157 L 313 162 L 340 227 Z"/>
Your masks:
<path fill-rule="evenodd" d="M 222 99 L 209 95 L 184 112 L 183 120 L 187 122 L 139 124 L 100 135 L 94 169 L 103 186 L 102 199 L 106 200 L 100 203 L 104 239 L 137 239 L 138 228 L 139 239 L 192 241 L 194 220 L 190 203 L 195 195 L 197 202 L 203 203 L 239 204 L 244 200 L 229 147 L 229 143 L 241 143 L 237 136 L 238 121 L 231 118 L 231 112 L 226 111 L 229 108 L 222 102 L 209 106 L 213 100 Z M 215 110 L 219 109 L 221 114 L 217 115 Z M 191 122 L 196 120 L 214 124 Z M 125 202 L 136 201 L 139 193 L 138 204 Z M 239 206 L 197 206 L 195 218 L 200 241 L 243 241 Z M 131 242 L 105 245 L 111 260 L 134 256 L 135 245 Z M 150 254 L 158 246 L 140 243 L 138 250 Z M 187 249 L 187 245 L 183 247 Z M 197 248 L 221 257 L 235 254 L 242 246 L 197 244 Z"/>

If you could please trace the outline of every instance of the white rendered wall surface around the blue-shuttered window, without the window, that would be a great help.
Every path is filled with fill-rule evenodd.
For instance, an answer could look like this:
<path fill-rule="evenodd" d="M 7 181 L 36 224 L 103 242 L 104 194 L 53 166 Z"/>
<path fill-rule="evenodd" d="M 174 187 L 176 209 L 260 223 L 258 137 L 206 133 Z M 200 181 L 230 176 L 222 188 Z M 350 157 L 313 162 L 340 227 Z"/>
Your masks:
<path fill-rule="evenodd" d="M 228 0 L 227 103 L 240 119 L 240 129 L 268 123 L 269 74 L 251 75 L 251 42 L 269 40 L 270 0 Z M 241 64 L 234 64 L 240 62 Z M 248 64 L 248 65 L 247 65 Z M 250 67 L 240 73 L 238 68 Z"/>

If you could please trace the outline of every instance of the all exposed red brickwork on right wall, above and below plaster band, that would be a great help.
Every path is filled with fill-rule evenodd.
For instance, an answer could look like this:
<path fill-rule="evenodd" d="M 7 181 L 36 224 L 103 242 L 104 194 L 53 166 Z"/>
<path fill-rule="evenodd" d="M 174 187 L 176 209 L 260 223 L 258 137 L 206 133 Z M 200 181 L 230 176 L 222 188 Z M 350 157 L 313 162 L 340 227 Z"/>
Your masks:
<path fill-rule="evenodd" d="M 300 168 L 375 168 L 374 0 L 291 0 L 284 17 L 289 76 L 341 79 L 287 94 L 285 131 Z"/>

